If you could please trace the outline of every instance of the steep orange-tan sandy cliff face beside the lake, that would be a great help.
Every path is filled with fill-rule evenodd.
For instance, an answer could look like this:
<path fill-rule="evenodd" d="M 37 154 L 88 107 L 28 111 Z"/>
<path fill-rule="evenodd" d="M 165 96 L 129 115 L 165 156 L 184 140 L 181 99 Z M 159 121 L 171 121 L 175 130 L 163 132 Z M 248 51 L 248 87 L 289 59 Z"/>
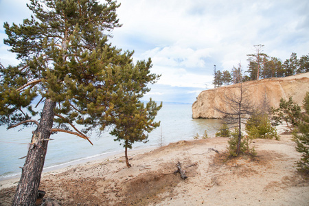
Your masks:
<path fill-rule="evenodd" d="M 196 101 L 192 104 L 192 117 L 195 118 L 222 118 L 222 114 L 215 108 L 225 108 L 224 94 L 226 92 L 238 92 L 238 85 L 229 85 L 202 91 Z M 281 98 L 288 100 L 291 96 L 299 106 L 306 92 L 309 92 L 309 72 L 301 73 L 286 78 L 269 78 L 242 83 L 246 88 L 253 102 L 262 102 L 266 95 L 269 105 L 277 108 Z"/>

